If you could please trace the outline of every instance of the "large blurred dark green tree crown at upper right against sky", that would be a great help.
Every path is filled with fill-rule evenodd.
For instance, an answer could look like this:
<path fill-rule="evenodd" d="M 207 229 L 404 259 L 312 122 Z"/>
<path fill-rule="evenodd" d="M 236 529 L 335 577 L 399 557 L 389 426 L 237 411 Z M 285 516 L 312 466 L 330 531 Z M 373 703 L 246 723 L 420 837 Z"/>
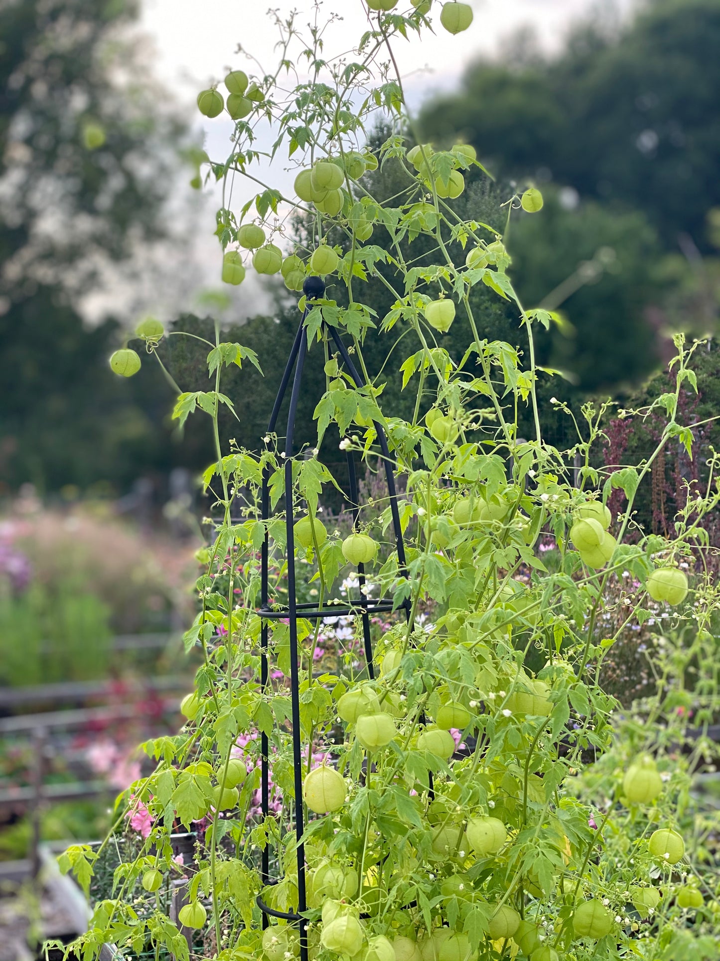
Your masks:
<path fill-rule="evenodd" d="M 719 48 L 717 0 L 650 0 L 619 31 L 576 29 L 553 60 L 470 67 L 422 112 L 424 135 L 461 132 L 503 175 L 643 209 L 668 246 L 687 234 L 704 249 L 720 204 Z"/>

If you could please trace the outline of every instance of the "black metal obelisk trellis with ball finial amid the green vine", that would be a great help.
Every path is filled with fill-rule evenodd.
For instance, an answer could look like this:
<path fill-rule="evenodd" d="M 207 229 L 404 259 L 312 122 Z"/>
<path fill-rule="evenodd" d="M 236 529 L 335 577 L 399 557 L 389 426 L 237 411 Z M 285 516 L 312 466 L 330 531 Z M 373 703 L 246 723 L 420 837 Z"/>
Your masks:
<path fill-rule="evenodd" d="M 296 594 L 296 579 L 295 579 L 295 544 L 294 544 L 294 523 L 295 523 L 295 505 L 293 497 L 293 441 L 295 434 L 295 420 L 298 410 L 298 402 L 300 400 L 300 385 L 302 382 L 302 369 L 305 362 L 305 357 L 308 349 L 307 342 L 307 331 L 305 328 L 305 318 L 309 311 L 312 309 L 312 301 L 321 298 L 324 294 L 324 282 L 320 277 L 308 277 L 302 287 L 302 292 L 307 298 L 307 306 L 302 314 L 302 319 L 300 321 L 300 327 L 298 333 L 296 334 L 295 341 L 293 343 L 292 349 L 290 351 L 290 357 L 288 357 L 287 364 L 285 366 L 285 371 L 282 375 L 282 380 L 280 381 L 279 389 L 277 391 L 275 406 L 273 407 L 273 412 L 270 417 L 270 423 L 268 425 L 268 432 L 272 433 L 276 430 L 277 418 L 279 416 L 280 407 L 282 406 L 283 400 L 287 393 L 287 388 L 290 384 L 290 379 L 293 376 L 293 369 L 295 370 L 295 376 L 293 377 L 293 385 L 290 394 L 290 405 L 288 409 L 287 418 L 287 431 L 285 435 L 285 520 L 286 520 L 286 530 L 287 530 L 287 586 L 288 586 L 288 604 L 283 606 L 271 605 L 269 604 L 269 557 L 270 557 L 270 542 L 269 535 L 265 533 L 265 542 L 262 546 L 261 552 L 261 580 L 260 580 L 260 610 L 259 614 L 262 618 L 262 629 L 260 634 L 260 645 L 261 645 L 261 656 L 260 656 L 260 683 L 263 691 L 268 687 L 269 681 L 269 662 L 268 662 L 268 640 L 270 626 L 273 621 L 284 620 L 289 623 L 289 640 L 290 640 L 290 694 L 291 694 L 291 721 L 292 721 L 292 738 L 293 738 L 293 769 L 294 769 L 294 793 L 295 793 L 295 832 L 298 841 L 297 847 L 297 859 L 298 859 L 298 911 L 276 911 L 274 908 L 269 907 L 264 900 L 258 896 L 257 904 L 263 912 L 263 927 L 267 927 L 269 924 L 269 915 L 275 918 L 284 919 L 291 924 L 298 924 L 300 928 L 300 961 L 307 961 L 307 941 L 305 937 L 305 919 L 303 918 L 303 912 L 306 910 L 306 892 L 305 892 L 305 854 L 303 845 L 301 844 L 301 838 L 304 831 L 304 820 L 302 813 L 302 764 L 303 764 L 303 750 L 302 750 L 302 738 L 300 731 L 300 663 L 299 663 L 299 648 L 298 648 L 298 619 L 304 618 L 307 620 L 317 620 L 319 618 L 325 617 L 339 617 L 343 615 L 355 615 L 359 616 L 362 629 L 363 629 L 363 644 L 365 649 L 365 657 L 367 660 L 368 674 L 370 678 L 374 678 L 374 667 L 372 664 L 372 642 L 371 642 L 371 616 L 373 614 L 381 612 L 389 612 L 393 610 L 393 599 L 392 598 L 381 598 L 377 601 L 372 601 L 369 599 L 363 591 L 365 585 L 365 571 L 362 564 L 358 565 L 358 585 L 359 585 L 359 598 L 357 600 L 348 598 L 346 602 L 341 603 L 331 603 L 330 599 L 323 602 L 322 605 L 318 604 L 298 604 L 297 594 Z M 349 376 L 355 382 L 358 387 L 364 385 L 363 379 L 360 374 L 355 369 L 352 360 L 349 357 L 348 349 L 340 337 L 340 334 L 332 327 L 324 325 L 324 333 L 329 336 L 337 349 L 339 356 L 341 357 L 343 364 L 345 365 Z M 396 495 L 396 483 L 395 475 L 393 472 L 393 463 L 390 457 L 390 449 L 388 447 L 387 438 L 382 426 L 378 423 L 374 423 L 375 431 L 377 432 L 377 440 L 380 447 L 380 458 L 382 459 L 385 467 L 385 476 L 388 485 L 388 496 L 390 500 L 390 508 L 393 518 L 393 530 L 395 533 L 396 551 L 397 551 L 397 564 L 400 573 L 406 574 L 405 568 L 405 550 L 402 540 L 402 530 L 400 528 L 400 517 L 397 508 L 397 495 Z M 262 492 L 261 492 L 261 509 L 262 509 L 262 519 L 267 521 L 270 519 L 270 489 L 269 480 L 271 476 L 271 470 L 266 470 L 263 481 L 262 481 Z M 358 489 L 357 489 L 357 476 L 355 473 L 355 461 L 351 451 L 348 451 L 348 476 L 349 476 L 349 494 L 350 501 L 352 505 L 352 518 L 355 526 L 358 524 L 360 505 L 358 503 Z M 406 614 L 408 613 L 408 606 L 405 606 Z M 263 733 L 261 735 L 261 807 L 262 814 L 264 818 L 267 818 L 270 811 L 270 760 L 269 760 L 269 738 L 268 735 Z M 304 753 L 306 757 L 307 754 Z M 286 813 L 287 807 L 283 813 Z M 262 883 L 264 886 L 274 884 L 277 882 L 276 878 L 271 878 L 270 876 L 270 848 L 266 845 L 262 852 L 262 867 L 261 867 Z"/>

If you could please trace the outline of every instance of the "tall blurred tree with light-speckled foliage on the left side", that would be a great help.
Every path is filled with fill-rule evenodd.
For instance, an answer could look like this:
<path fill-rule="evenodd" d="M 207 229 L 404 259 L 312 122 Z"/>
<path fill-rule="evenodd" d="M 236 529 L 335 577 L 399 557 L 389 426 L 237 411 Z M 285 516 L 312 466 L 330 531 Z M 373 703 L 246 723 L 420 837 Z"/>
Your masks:
<path fill-rule="evenodd" d="M 136 14 L 125 0 L 0 3 L 6 490 L 25 480 L 41 490 L 123 484 L 170 459 L 169 437 L 147 413 L 164 387 L 116 382 L 107 357 L 117 326 L 85 332 L 77 309 L 108 265 L 165 231 L 182 127 L 128 36 Z"/>

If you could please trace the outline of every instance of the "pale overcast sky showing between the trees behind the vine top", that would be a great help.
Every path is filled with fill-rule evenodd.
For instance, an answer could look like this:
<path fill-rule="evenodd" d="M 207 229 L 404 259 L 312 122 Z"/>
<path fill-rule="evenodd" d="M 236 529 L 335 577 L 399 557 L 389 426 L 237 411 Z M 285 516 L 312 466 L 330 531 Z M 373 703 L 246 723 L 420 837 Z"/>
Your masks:
<path fill-rule="evenodd" d="M 417 37 L 408 42 L 396 42 L 396 58 L 411 109 L 415 110 L 434 91 L 457 86 L 468 62 L 478 54 L 495 54 L 503 41 L 521 27 L 532 26 L 540 46 L 552 51 L 562 44 L 573 21 L 597 8 L 625 12 L 633 0 L 469 2 L 474 20 L 465 33 L 453 37 L 438 24 L 437 36 L 425 33 L 421 42 Z M 296 9 L 300 23 L 310 19 L 313 8 L 311 0 L 299 0 L 295 4 L 280 0 L 275 6 L 281 14 Z M 438 0 L 435 0 L 435 6 L 439 9 Z M 342 14 L 342 20 L 332 25 L 327 36 L 327 53 L 347 50 L 367 28 L 365 5 L 361 0 L 324 0 L 323 7 Z M 205 120 L 195 108 L 195 97 L 204 86 L 222 81 L 228 68 L 249 69 L 247 58 L 236 53 L 239 43 L 252 51 L 265 70 L 274 68 L 277 34 L 268 15 L 268 5 L 264 0 L 142 0 L 140 29 L 151 38 L 155 47 L 156 75 L 186 105 L 192 122 L 199 132 L 203 132 L 209 155 L 213 159 L 225 158 L 232 122 L 223 117 Z M 292 183 L 289 174 L 284 178 L 280 174 L 280 180 L 283 186 Z M 251 192 L 254 191 L 250 188 L 236 186 L 233 209 L 239 209 Z M 214 283 L 220 262 L 217 241 L 212 236 L 218 196 L 217 192 L 215 195 L 212 191 L 210 193 L 198 223 L 195 242 L 195 259 L 205 285 Z M 238 300 L 241 312 L 252 314 L 263 304 L 269 306 L 267 298 L 263 298 L 262 291 L 258 290 L 252 272 L 241 290 L 242 296 Z M 251 301 L 252 306 L 244 306 Z M 190 308 L 192 304 L 186 306 Z M 161 311 L 159 305 L 149 305 L 149 308 Z"/>

